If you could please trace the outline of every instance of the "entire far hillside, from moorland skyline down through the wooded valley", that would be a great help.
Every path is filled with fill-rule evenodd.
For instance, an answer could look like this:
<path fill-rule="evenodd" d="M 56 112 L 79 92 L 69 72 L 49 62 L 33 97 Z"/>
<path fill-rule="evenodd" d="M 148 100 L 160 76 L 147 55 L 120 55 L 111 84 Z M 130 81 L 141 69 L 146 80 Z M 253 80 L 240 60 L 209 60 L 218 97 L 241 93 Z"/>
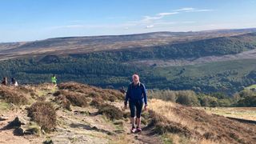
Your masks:
<path fill-rule="evenodd" d="M 0 44 L 0 77 L 42 83 L 126 86 L 234 94 L 255 83 L 256 29 L 50 38 Z"/>

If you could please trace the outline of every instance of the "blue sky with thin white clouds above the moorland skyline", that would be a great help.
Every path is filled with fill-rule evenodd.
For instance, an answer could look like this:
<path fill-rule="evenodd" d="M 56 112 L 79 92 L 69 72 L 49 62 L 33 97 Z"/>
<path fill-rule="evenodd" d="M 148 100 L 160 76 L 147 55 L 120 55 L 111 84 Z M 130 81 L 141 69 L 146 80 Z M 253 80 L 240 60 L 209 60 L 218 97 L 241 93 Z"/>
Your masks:
<path fill-rule="evenodd" d="M 0 42 L 256 27 L 256 0 L 1 0 Z"/>

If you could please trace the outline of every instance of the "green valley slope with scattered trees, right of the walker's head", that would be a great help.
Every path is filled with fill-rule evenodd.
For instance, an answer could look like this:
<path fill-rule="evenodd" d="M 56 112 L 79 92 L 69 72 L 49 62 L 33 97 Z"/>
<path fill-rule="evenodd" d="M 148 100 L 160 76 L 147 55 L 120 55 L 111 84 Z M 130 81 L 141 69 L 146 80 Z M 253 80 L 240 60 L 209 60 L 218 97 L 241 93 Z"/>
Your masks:
<path fill-rule="evenodd" d="M 190 66 L 154 67 L 145 71 L 151 74 L 147 75 L 148 78 L 150 76 L 166 78 L 161 82 L 157 79 L 154 82 L 147 82 L 147 86 L 170 90 L 200 88 L 202 91 L 199 92 L 203 93 L 223 92 L 231 95 L 256 82 L 255 78 L 248 77 L 248 74 L 256 71 L 255 59 L 209 62 Z"/>

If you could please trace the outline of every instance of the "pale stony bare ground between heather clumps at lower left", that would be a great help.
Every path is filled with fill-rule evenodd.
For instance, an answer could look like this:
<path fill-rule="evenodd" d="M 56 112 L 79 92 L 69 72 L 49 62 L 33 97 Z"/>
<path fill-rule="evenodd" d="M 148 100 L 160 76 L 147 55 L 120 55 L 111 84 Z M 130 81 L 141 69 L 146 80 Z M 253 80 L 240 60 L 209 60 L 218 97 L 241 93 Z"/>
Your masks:
<path fill-rule="evenodd" d="M 55 90 L 57 91 L 57 90 Z M 0 143 L 161 143 L 158 135 L 150 134 L 150 130 L 144 129 L 139 134 L 130 134 L 130 121 L 128 118 L 114 120 L 98 114 L 94 106 L 71 106 L 65 110 L 54 102 L 53 90 L 40 90 L 41 97 L 47 102 L 53 102 L 57 107 L 57 126 L 54 131 L 46 134 L 14 134 L 15 129 L 6 130 L 5 127 L 14 118 L 18 117 L 25 126 L 30 122 L 27 117 L 26 106 L 14 106 L 11 110 L 1 111 L 0 115 Z M 122 102 L 109 102 L 122 110 Z M 124 111 L 124 113 L 129 110 Z"/>

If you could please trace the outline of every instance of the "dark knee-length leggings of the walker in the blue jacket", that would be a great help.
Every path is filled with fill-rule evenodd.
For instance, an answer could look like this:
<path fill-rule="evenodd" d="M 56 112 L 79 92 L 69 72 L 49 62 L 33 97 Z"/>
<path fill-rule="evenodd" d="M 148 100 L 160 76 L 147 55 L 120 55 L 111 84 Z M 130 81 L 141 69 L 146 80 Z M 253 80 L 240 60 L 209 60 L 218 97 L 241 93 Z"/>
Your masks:
<path fill-rule="evenodd" d="M 136 111 L 136 117 L 141 118 L 142 107 L 143 107 L 142 100 L 129 101 L 129 107 L 130 107 L 130 117 L 131 118 L 135 117 L 135 111 Z"/>

